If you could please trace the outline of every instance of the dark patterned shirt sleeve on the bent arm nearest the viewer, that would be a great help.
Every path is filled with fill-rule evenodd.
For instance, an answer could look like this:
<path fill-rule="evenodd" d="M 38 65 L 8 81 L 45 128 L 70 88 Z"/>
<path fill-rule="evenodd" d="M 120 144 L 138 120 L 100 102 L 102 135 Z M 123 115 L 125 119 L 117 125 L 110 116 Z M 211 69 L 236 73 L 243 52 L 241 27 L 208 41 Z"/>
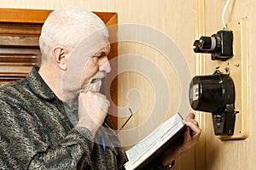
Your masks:
<path fill-rule="evenodd" d="M 11 105 L 0 106 L 1 168 L 77 169 L 82 156 L 83 167 L 91 166 L 93 138 L 87 128 L 73 127 L 51 144 L 35 117 Z"/>

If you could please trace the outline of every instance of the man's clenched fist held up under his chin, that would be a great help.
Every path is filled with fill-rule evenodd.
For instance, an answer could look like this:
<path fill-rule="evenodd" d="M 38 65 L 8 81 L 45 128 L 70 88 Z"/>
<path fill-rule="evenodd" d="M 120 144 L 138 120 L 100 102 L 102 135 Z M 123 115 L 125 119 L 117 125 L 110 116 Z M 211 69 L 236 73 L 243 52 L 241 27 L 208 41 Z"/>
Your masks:
<path fill-rule="evenodd" d="M 100 93 L 79 94 L 79 122 L 77 127 L 86 127 L 93 136 L 107 116 L 109 101 Z"/>

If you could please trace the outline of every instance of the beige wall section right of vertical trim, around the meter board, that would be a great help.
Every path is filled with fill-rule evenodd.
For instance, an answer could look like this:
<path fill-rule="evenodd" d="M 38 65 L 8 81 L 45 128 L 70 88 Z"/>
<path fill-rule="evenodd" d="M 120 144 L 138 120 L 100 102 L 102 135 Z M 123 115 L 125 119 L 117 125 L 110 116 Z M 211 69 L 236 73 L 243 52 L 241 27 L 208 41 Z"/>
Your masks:
<path fill-rule="evenodd" d="M 222 28 L 221 14 L 226 1 L 205 1 L 205 31 L 207 35 L 212 35 L 214 31 Z M 253 0 L 246 1 L 230 1 L 225 14 L 226 22 L 232 22 L 247 18 L 248 31 L 248 70 L 249 70 L 249 137 L 245 140 L 229 140 L 221 141 L 212 135 L 211 116 L 207 116 L 206 125 L 206 162 L 207 170 L 215 169 L 255 169 L 254 162 L 256 161 L 256 116 L 255 116 L 255 69 L 256 59 L 254 44 L 256 42 L 256 18 L 255 11 L 256 3 Z M 236 57 L 236 56 L 235 56 Z M 206 72 L 212 72 L 210 68 L 212 61 L 207 60 Z M 242 114 L 242 113 L 241 113 Z"/>

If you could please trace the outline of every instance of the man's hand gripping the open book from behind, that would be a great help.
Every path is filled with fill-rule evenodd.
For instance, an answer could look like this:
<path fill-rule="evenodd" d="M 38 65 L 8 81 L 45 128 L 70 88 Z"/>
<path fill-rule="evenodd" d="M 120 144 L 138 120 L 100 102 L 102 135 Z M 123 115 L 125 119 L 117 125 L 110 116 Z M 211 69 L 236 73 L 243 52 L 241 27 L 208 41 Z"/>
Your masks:
<path fill-rule="evenodd" d="M 183 134 L 183 142 L 172 145 L 160 158 L 160 161 L 165 166 L 170 165 L 177 156 L 195 146 L 200 138 L 201 128 L 198 126 L 198 122 L 195 121 L 193 113 L 189 113 L 183 120 L 183 123 L 188 126 Z"/>

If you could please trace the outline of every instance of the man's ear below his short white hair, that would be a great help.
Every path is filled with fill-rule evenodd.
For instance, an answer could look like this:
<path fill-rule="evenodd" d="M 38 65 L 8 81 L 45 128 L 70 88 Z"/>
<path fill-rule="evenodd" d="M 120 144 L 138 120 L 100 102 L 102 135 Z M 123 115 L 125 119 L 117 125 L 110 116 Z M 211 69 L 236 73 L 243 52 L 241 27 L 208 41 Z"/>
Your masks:
<path fill-rule="evenodd" d="M 67 70 L 67 50 L 64 47 L 57 46 L 53 50 L 55 63 L 58 67 L 66 71 Z"/>

